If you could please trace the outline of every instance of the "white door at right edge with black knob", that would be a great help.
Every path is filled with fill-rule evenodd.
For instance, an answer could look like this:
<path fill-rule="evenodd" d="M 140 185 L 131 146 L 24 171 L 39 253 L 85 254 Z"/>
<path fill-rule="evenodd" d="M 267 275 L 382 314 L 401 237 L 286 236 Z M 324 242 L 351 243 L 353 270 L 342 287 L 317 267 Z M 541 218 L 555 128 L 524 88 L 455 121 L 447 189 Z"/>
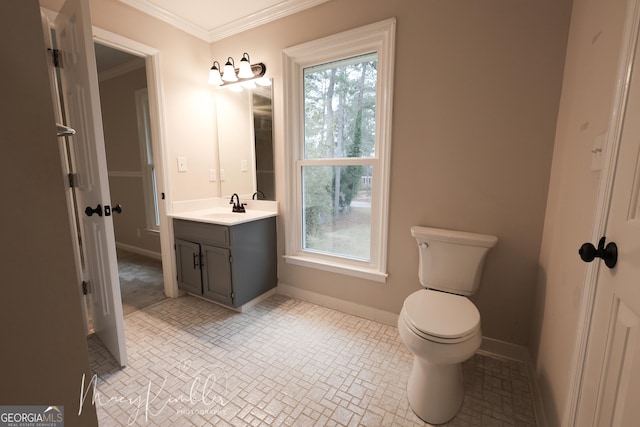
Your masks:
<path fill-rule="evenodd" d="M 604 233 L 617 244 L 618 261 L 610 269 L 595 260 L 600 266 L 576 426 L 640 425 L 640 15 L 638 2 L 629 4 L 635 18 L 623 73 L 625 63 L 632 68 L 626 107 L 623 102 L 613 130 L 616 166 Z"/>

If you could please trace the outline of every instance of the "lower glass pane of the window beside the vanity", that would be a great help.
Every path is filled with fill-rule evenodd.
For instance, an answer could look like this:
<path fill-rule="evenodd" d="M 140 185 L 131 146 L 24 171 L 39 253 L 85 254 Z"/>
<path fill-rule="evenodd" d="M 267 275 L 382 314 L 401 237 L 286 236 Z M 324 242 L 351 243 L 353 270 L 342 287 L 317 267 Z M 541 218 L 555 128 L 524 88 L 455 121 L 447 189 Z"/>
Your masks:
<path fill-rule="evenodd" d="M 371 169 L 370 165 L 302 168 L 304 250 L 369 261 Z"/>

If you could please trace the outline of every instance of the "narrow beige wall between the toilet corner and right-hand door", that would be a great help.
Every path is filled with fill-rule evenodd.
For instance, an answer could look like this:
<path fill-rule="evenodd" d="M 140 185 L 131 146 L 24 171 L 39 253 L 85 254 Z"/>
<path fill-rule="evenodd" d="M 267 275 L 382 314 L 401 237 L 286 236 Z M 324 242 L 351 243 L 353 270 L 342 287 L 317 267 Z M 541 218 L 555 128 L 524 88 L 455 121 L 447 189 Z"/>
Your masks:
<path fill-rule="evenodd" d="M 625 5 L 573 1 L 530 342 L 551 426 L 567 404 L 586 272 L 577 250 L 591 237 L 600 179 L 591 149 L 609 124 Z"/>

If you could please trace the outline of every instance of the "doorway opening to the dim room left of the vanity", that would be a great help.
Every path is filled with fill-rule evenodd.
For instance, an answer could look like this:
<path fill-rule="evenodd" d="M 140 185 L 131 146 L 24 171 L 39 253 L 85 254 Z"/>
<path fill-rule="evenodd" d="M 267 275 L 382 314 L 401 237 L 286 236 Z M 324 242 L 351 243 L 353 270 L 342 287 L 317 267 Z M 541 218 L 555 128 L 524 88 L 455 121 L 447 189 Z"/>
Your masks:
<path fill-rule="evenodd" d="M 124 315 L 165 298 L 145 59 L 94 43 Z"/>

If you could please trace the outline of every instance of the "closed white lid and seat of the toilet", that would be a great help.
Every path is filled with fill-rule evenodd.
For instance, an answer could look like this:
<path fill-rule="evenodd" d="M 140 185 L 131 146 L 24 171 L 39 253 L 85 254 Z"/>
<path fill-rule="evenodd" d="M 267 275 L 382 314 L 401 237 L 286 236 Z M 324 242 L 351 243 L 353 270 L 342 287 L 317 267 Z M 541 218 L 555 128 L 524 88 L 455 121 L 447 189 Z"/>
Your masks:
<path fill-rule="evenodd" d="M 402 317 L 412 332 L 440 343 L 466 341 L 480 330 L 480 312 L 469 299 L 430 289 L 409 295 Z"/>

